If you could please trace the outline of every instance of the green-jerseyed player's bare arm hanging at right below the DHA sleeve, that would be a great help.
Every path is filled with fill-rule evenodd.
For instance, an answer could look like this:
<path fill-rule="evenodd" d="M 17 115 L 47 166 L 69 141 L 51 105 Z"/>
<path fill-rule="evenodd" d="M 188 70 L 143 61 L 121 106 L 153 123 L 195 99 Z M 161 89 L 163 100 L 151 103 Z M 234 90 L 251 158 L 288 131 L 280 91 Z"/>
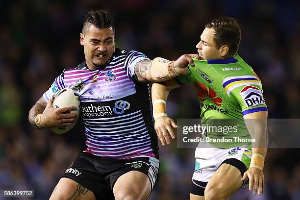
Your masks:
<path fill-rule="evenodd" d="M 244 115 L 245 124 L 255 142 L 252 143 L 252 156 L 250 168 L 244 173 L 241 181 L 249 178 L 249 190 L 253 193 L 262 195 L 264 191 L 265 178 L 263 175 L 264 161 L 267 154 L 268 136 L 267 136 L 267 111 L 254 112 Z"/>

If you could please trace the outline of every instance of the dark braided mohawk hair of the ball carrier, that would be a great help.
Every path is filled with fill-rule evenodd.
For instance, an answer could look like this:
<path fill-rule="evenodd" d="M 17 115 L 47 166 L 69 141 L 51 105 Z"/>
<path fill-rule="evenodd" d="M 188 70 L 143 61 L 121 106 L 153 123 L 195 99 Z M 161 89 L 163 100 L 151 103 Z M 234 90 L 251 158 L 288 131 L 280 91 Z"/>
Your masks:
<path fill-rule="evenodd" d="M 112 27 L 112 29 L 115 31 L 113 17 L 106 10 L 90 10 L 84 17 L 82 33 L 85 34 L 91 25 L 94 25 L 100 29 Z"/>

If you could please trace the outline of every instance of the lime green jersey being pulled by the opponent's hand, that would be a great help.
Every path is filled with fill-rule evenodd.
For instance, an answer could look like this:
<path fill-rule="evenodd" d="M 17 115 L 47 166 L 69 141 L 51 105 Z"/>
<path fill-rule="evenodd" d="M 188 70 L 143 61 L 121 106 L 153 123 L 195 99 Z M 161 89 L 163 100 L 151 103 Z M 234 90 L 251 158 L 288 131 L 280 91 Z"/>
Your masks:
<path fill-rule="evenodd" d="M 250 134 L 243 116 L 253 112 L 267 111 L 262 95 L 262 85 L 253 69 L 239 56 L 227 59 L 197 60 L 189 66 L 188 75 L 175 78 L 180 84 L 193 84 L 200 100 L 202 125 L 213 125 L 214 120 L 224 119 L 233 125 L 238 122 L 238 131 L 207 132 L 210 138 L 230 138 L 232 142 L 211 142 L 218 148 L 250 145 Z M 229 120 L 236 119 L 236 120 Z M 209 123 L 210 122 L 210 123 Z M 235 139 L 234 139 L 235 138 Z M 246 140 L 236 140 L 246 139 Z M 248 140 L 247 140 L 248 139 Z M 248 141 L 248 142 L 241 142 Z"/>

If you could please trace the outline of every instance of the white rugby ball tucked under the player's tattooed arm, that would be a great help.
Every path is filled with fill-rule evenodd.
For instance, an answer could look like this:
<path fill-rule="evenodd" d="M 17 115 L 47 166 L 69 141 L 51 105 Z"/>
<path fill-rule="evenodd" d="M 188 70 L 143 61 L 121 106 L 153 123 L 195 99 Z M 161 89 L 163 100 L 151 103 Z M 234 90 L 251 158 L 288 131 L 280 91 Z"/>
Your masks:
<path fill-rule="evenodd" d="M 52 132 L 57 134 L 62 134 L 71 130 L 75 126 L 78 120 L 79 111 L 80 111 L 80 99 L 74 90 L 70 88 L 63 88 L 55 93 L 54 100 L 52 103 L 53 108 L 63 108 L 63 107 L 73 106 L 73 105 L 76 107 L 76 109 L 67 111 L 65 113 L 76 113 L 77 114 L 76 121 L 73 122 L 71 125 L 50 127 L 50 130 Z"/>

